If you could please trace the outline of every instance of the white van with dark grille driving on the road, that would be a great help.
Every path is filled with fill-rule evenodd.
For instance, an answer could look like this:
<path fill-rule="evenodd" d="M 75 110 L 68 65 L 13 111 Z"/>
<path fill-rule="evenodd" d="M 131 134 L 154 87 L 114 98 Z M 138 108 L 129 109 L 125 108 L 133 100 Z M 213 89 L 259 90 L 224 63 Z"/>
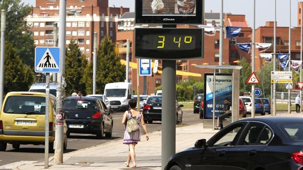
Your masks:
<path fill-rule="evenodd" d="M 111 103 L 111 109 L 115 111 L 127 111 L 128 101 L 134 94 L 132 83 L 117 82 L 105 85 L 104 95 Z"/>

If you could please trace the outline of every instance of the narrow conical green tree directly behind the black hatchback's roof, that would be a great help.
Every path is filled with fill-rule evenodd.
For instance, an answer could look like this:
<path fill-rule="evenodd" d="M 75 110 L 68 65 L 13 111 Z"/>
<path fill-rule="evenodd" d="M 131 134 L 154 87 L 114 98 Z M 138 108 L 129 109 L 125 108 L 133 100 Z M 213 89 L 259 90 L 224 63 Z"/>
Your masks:
<path fill-rule="evenodd" d="M 66 93 L 72 94 L 74 90 L 86 92 L 86 81 L 83 79 L 84 70 L 87 67 L 86 57 L 81 54 L 78 44 L 71 39 L 69 50 L 66 50 L 65 58 L 65 80 Z"/>

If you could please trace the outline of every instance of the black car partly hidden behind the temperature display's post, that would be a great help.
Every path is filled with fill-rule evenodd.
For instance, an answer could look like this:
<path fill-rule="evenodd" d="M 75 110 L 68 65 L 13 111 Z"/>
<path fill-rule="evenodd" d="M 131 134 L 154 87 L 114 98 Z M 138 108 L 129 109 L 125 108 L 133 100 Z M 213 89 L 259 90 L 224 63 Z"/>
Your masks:
<path fill-rule="evenodd" d="M 176 124 L 182 123 L 183 105 L 176 101 Z M 153 123 L 153 121 L 162 121 L 162 96 L 149 96 L 143 105 L 144 122 Z"/>

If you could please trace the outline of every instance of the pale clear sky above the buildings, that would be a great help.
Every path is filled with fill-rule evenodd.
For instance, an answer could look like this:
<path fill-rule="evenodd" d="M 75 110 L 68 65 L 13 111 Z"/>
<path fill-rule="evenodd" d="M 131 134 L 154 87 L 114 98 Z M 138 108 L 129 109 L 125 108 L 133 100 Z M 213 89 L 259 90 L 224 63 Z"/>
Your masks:
<path fill-rule="evenodd" d="M 22 0 L 24 3 L 35 5 L 35 0 Z M 246 15 L 250 27 L 253 27 L 253 1 L 254 0 L 224 0 L 224 12 Z M 277 0 L 278 26 L 289 26 L 289 3 L 291 1 L 291 25 L 298 23 L 298 1 Z M 302 1 L 302 0 L 299 0 Z M 220 12 L 221 0 L 205 0 L 206 12 Z M 256 0 L 256 28 L 264 26 L 266 21 L 274 20 L 275 0 Z M 135 0 L 109 0 L 109 5 L 123 6 L 135 11 Z"/>

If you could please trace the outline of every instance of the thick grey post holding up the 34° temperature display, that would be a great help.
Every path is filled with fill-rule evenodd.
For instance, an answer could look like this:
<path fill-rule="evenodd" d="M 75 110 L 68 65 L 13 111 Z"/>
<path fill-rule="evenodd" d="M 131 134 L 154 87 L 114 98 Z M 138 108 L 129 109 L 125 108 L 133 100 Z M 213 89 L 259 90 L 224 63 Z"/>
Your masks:
<path fill-rule="evenodd" d="M 162 170 L 176 152 L 176 60 L 163 60 Z"/>

